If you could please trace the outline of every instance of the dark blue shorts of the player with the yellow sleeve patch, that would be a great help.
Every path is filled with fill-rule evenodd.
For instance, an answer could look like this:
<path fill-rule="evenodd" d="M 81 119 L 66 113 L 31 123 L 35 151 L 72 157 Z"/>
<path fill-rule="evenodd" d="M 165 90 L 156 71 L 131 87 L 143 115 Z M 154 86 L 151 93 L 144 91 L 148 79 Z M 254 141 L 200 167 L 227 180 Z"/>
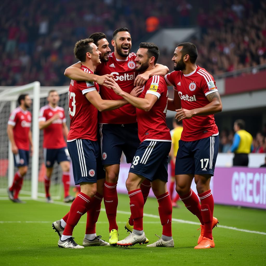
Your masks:
<path fill-rule="evenodd" d="M 136 151 L 129 172 L 151 182 L 156 179 L 167 182 L 170 149 L 171 142 L 144 140 Z"/>

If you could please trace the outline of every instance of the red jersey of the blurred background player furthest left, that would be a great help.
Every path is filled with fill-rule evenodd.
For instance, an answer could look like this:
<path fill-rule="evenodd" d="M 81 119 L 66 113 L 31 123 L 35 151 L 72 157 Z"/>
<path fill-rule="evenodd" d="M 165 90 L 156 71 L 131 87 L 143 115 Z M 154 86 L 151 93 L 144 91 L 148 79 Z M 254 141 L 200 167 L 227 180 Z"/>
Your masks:
<path fill-rule="evenodd" d="M 14 126 L 13 134 L 18 149 L 30 150 L 29 132 L 31 127 L 31 112 L 17 107 L 10 115 L 7 124 Z"/>

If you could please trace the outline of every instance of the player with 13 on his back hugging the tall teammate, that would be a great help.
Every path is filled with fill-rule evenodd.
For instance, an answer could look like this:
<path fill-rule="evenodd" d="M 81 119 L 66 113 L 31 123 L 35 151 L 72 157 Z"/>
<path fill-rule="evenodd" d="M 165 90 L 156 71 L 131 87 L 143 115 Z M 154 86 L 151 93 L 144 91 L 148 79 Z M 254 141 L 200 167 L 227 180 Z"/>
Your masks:
<path fill-rule="evenodd" d="M 93 43 L 93 39 L 78 41 L 74 48 L 74 54 L 82 62 L 82 70 L 88 73 L 93 73 L 97 65 L 101 64 L 99 59 L 101 52 Z M 98 206 L 102 201 L 102 196 L 100 195 L 98 197 L 96 182 L 97 178 L 104 178 L 103 175 L 99 174 L 101 173 L 102 166 L 101 161 L 98 160 L 98 110 L 112 110 L 125 104 L 127 104 L 125 100 L 103 100 L 99 95 L 99 85 L 97 82 L 74 80 L 70 82 L 70 130 L 67 138 L 67 146 L 72 159 L 75 184 L 80 184 L 81 192 L 73 201 L 69 213 L 61 221 L 53 223 L 53 228 L 57 232 L 60 233 L 63 229 L 58 241 L 59 247 L 84 248 L 74 241 L 72 237 L 73 229 L 77 225 L 80 217 L 86 212 L 88 215 L 97 217 L 98 219 Z M 95 206 L 97 206 L 97 209 Z M 99 236 L 87 240 L 86 246 L 109 245 L 109 243 L 101 240 Z"/>

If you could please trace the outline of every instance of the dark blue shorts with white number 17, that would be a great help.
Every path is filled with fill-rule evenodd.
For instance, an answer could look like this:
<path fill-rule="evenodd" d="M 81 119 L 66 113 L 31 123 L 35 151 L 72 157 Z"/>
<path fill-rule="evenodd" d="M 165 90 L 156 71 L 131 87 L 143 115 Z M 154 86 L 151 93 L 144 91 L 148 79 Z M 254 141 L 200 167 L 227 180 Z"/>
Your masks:
<path fill-rule="evenodd" d="M 210 174 L 213 176 L 219 148 L 219 136 L 195 141 L 179 140 L 175 174 Z"/>

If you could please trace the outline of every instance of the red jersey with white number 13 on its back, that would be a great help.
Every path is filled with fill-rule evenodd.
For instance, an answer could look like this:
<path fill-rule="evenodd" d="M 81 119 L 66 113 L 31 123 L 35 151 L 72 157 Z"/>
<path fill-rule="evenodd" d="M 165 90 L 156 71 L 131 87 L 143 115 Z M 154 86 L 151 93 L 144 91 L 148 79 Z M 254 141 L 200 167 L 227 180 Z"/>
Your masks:
<path fill-rule="evenodd" d="M 93 71 L 84 65 L 81 69 L 93 74 Z M 98 110 L 84 95 L 94 90 L 99 93 L 99 85 L 96 82 L 71 80 L 68 92 L 70 129 L 67 141 L 97 140 Z"/>

